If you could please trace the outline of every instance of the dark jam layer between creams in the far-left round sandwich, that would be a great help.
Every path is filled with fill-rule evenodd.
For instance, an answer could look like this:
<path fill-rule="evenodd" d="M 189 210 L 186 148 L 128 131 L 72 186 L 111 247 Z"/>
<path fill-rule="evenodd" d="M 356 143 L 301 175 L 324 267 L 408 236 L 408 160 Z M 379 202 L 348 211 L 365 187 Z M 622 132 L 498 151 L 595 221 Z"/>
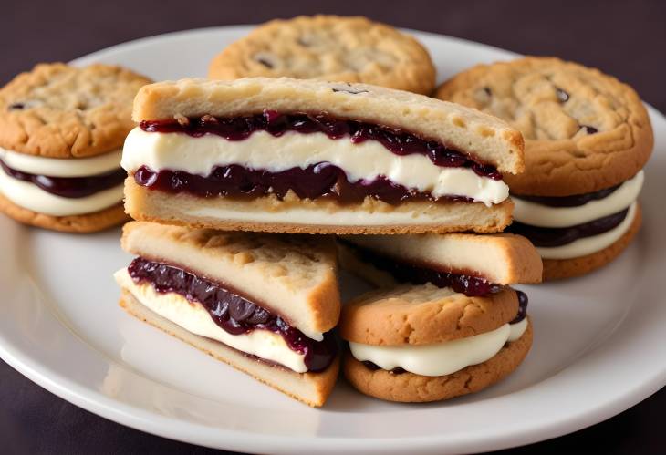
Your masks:
<path fill-rule="evenodd" d="M 127 177 L 123 169 L 109 171 L 89 177 L 48 177 L 46 175 L 30 174 L 10 168 L 0 160 L 0 166 L 10 177 L 19 181 L 34 183 L 44 191 L 63 198 L 85 198 L 99 191 L 109 190 L 120 185 Z"/>

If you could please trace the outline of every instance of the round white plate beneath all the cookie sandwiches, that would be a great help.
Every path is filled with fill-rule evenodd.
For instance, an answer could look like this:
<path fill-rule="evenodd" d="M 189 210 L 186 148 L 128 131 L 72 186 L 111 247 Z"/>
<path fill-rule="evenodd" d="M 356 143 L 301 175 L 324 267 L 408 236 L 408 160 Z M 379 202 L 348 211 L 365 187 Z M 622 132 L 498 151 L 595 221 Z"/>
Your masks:
<path fill-rule="evenodd" d="M 155 79 L 200 76 L 245 26 L 156 36 L 77 61 L 118 63 Z M 513 54 L 416 33 L 439 78 Z M 453 453 L 553 438 L 608 419 L 666 383 L 666 119 L 641 202 L 645 224 L 596 274 L 527 288 L 535 343 L 522 367 L 473 396 L 429 405 L 366 398 L 340 382 L 325 408 L 256 383 L 116 305 L 111 274 L 130 261 L 119 231 L 68 235 L 0 218 L 0 356 L 58 396 L 122 424 L 227 450 Z M 349 292 L 349 284 L 348 289 Z"/>

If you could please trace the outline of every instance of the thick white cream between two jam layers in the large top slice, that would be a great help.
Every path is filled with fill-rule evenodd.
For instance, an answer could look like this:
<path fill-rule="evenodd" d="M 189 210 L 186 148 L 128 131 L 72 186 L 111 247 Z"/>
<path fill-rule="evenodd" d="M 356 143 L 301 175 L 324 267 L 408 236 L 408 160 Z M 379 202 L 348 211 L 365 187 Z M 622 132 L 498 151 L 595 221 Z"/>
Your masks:
<path fill-rule="evenodd" d="M 481 177 L 469 168 L 444 168 L 420 154 L 399 156 L 380 142 L 358 144 L 349 138 L 331 140 L 324 133 L 287 131 L 275 137 L 255 131 L 245 140 L 225 140 L 213 134 L 193 138 L 186 134 L 130 131 L 122 154 L 122 167 L 132 173 L 140 166 L 208 175 L 215 166 L 238 164 L 248 169 L 285 171 L 329 162 L 345 171 L 350 182 L 372 181 L 383 175 L 406 188 L 435 197 L 458 195 L 484 202 L 503 202 L 509 195 L 504 181 Z"/>

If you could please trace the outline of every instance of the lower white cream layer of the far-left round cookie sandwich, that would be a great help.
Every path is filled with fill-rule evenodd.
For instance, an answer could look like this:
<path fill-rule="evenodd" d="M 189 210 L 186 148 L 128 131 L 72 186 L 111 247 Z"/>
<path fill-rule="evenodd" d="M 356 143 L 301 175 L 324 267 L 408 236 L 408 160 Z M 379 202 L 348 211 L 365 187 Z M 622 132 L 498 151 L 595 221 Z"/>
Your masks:
<path fill-rule="evenodd" d="M 0 170 L 0 192 L 19 207 L 51 216 L 99 212 L 122 201 L 122 183 L 83 198 L 63 198 Z"/>

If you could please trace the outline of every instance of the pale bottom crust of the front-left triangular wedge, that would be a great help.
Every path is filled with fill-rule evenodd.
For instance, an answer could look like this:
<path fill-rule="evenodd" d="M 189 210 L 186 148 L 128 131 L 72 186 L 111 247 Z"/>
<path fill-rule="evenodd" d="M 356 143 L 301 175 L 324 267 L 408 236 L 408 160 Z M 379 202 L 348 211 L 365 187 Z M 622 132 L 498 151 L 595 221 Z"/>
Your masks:
<path fill-rule="evenodd" d="M 280 392 L 312 407 L 322 406 L 338 378 L 339 360 L 336 359 L 321 373 L 296 373 L 284 367 L 276 367 L 255 358 L 245 356 L 235 349 L 203 336 L 193 335 L 173 324 L 161 315 L 153 313 L 130 294 L 122 290 L 120 306 L 130 315 L 155 326 L 169 335 L 181 339 L 211 357 L 216 358 Z"/>

